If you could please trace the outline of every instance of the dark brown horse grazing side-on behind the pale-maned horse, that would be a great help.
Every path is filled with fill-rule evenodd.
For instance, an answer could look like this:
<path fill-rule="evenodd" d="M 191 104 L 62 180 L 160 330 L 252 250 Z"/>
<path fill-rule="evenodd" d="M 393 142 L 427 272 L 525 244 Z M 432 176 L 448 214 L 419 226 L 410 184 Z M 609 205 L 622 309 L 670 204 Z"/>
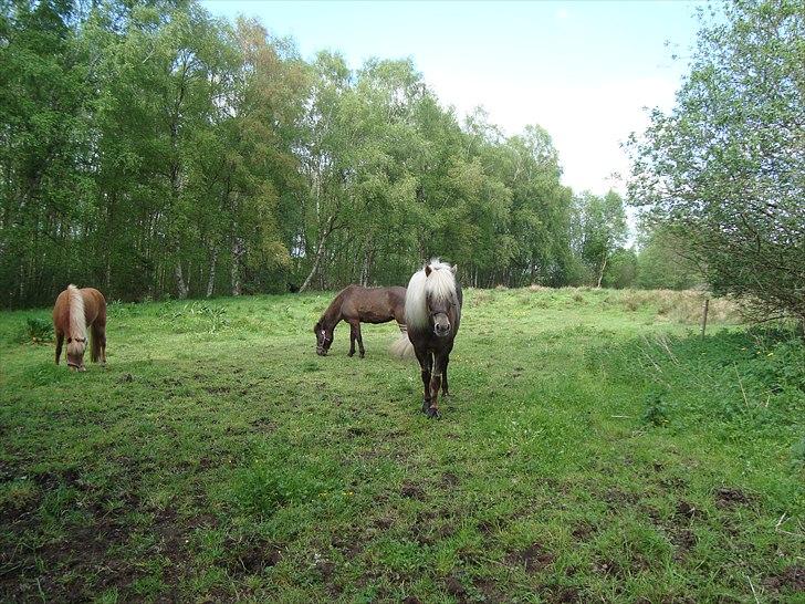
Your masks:
<path fill-rule="evenodd" d="M 316 334 L 316 354 L 327 355 L 333 344 L 333 332 L 341 321 L 349 323 L 349 356 L 355 354 L 356 340 L 360 358 L 366 354 L 360 323 L 388 323 L 395 320 L 405 336 L 405 288 L 348 285 L 335 296 L 313 327 L 313 333 Z"/>

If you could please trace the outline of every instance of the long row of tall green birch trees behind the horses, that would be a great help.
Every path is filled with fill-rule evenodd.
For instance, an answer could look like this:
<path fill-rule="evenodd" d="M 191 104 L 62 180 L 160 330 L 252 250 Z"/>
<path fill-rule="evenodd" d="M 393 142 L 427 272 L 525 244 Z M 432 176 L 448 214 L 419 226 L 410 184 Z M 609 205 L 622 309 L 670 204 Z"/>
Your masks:
<path fill-rule="evenodd" d="M 545 129 L 460 119 L 411 61 L 305 61 L 192 1 L 0 7 L 7 308 L 69 282 L 123 300 L 405 283 L 432 256 L 473 287 L 639 282 L 620 196 L 574 194 Z"/>

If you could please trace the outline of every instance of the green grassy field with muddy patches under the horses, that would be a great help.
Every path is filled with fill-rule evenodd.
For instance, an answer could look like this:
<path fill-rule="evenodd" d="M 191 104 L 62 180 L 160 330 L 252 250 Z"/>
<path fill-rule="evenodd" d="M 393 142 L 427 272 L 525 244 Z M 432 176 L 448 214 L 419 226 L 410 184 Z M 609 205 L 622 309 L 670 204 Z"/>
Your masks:
<path fill-rule="evenodd" d="M 692 293 L 468 290 L 442 419 L 328 295 L 0 314 L 0 601 L 805 602 L 805 348 Z"/>

